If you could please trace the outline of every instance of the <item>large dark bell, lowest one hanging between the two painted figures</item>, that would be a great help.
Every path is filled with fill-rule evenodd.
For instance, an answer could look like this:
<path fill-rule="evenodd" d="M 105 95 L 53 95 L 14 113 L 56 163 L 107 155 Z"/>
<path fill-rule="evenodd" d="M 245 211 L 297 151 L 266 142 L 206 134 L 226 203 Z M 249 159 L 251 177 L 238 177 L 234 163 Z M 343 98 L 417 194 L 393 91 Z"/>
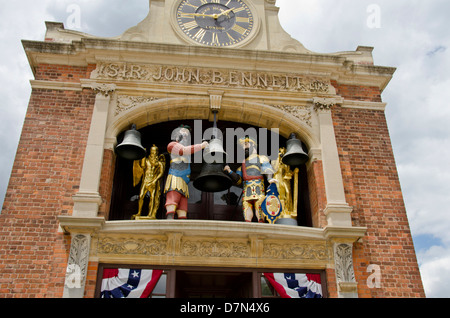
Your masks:
<path fill-rule="evenodd" d="M 223 171 L 222 163 L 205 163 L 194 187 L 202 192 L 222 192 L 233 185 L 231 178 Z"/>

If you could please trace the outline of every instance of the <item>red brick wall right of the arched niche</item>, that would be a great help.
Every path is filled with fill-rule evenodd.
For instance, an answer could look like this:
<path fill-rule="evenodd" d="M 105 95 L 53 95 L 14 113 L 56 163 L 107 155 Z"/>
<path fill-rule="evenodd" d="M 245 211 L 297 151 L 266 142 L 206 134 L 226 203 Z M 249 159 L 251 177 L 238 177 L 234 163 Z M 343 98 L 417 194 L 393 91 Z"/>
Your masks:
<path fill-rule="evenodd" d="M 373 89 L 338 87 L 353 99 L 379 101 Z M 337 106 L 332 114 L 352 221 L 368 228 L 354 247 L 359 296 L 424 297 L 384 112 Z M 381 288 L 367 286 L 370 264 L 380 266 Z"/>

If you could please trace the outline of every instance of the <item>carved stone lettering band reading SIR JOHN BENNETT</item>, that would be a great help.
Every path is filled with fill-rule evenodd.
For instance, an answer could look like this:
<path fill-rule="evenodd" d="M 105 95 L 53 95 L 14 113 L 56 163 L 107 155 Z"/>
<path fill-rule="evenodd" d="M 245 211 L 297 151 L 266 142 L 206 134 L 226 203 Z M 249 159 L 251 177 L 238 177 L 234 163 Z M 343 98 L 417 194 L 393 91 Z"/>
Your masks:
<path fill-rule="evenodd" d="M 305 93 L 328 93 L 331 86 L 329 81 L 298 74 L 127 63 L 100 63 L 92 78 Z"/>

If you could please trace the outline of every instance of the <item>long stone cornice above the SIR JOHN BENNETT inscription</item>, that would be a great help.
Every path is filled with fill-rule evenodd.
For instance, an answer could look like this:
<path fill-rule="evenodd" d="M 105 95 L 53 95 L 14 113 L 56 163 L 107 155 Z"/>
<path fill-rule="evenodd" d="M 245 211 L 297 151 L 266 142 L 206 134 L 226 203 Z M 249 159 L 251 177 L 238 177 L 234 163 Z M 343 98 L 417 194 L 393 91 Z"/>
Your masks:
<path fill-rule="evenodd" d="M 343 83 L 364 83 L 384 89 L 395 68 L 357 65 L 345 56 L 336 54 L 304 54 L 244 49 L 223 49 L 175 44 L 126 42 L 111 39 L 82 39 L 68 43 L 22 41 L 30 65 L 34 70 L 40 63 L 88 65 L 101 61 L 124 61 L 189 65 L 191 67 L 232 66 L 249 71 L 295 72 L 321 76 Z"/>

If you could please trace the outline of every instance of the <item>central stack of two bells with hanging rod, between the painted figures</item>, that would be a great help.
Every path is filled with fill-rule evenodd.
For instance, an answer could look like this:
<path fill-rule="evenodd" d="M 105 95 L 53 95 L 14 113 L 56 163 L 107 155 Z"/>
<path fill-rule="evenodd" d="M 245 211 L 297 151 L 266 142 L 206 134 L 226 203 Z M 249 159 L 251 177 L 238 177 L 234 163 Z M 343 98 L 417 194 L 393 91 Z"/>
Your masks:
<path fill-rule="evenodd" d="M 214 129 L 217 129 L 214 113 Z M 213 137 L 203 153 L 204 164 L 194 187 L 202 192 L 222 192 L 233 185 L 231 178 L 223 171 L 228 155 L 223 149 L 223 142 Z"/>

